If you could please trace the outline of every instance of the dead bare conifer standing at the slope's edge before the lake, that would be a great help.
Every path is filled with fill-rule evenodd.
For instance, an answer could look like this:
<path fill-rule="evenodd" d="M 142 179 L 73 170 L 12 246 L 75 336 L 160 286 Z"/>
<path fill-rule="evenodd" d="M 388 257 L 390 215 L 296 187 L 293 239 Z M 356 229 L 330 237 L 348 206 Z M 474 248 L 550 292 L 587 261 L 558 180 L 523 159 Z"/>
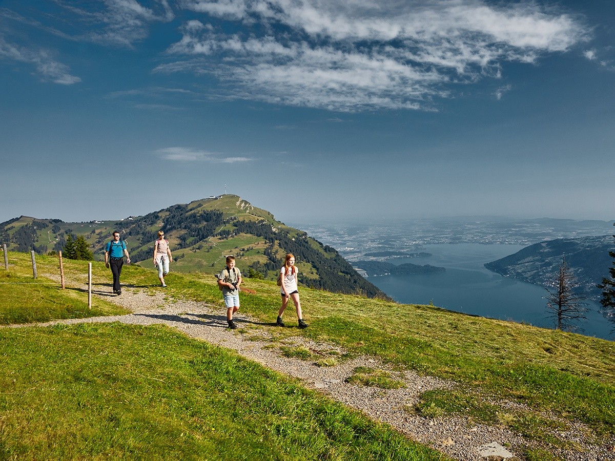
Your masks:
<path fill-rule="evenodd" d="M 578 321 L 587 320 L 587 302 L 582 294 L 574 293 L 573 289 L 577 286 L 573 272 L 566 265 L 566 258 L 561 258 L 560 268 L 553 279 L 553 288 L 546 288 L 548 296 L 547 309 L 553 314 L 549 318 L 555 320 L 556 329 L 562 331 L 584 331 L 576 325 Z"/>

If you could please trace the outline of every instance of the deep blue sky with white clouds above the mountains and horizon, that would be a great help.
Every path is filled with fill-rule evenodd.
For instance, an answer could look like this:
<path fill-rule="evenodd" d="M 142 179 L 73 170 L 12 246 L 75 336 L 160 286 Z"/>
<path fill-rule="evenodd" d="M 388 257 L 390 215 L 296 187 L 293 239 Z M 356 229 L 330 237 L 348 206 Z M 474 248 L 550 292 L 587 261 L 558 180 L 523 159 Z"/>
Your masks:
<path fill-rule="evenodd" d="M 613 219 L 615 2 L 0 0 L 0 221 Z"/>

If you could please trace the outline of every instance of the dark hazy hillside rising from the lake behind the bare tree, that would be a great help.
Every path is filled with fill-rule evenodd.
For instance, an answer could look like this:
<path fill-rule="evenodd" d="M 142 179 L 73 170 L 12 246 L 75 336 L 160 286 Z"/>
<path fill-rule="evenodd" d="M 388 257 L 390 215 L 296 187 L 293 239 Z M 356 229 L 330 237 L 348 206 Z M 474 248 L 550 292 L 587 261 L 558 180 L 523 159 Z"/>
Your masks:
<path fill-rule="evenodd" d="M 579 283 L 577 293 L 597 300 L 601 291 L 596 285 L 608 277 L 613 265 L 609 251 L 614 250 L 614 243 L 612 235 L 558 238 L 526 246 L 506 258 L 488 262 L 485 267 L 507 277 L 549 287 L 554 283 L 562 258 L 566 258 Z"/>

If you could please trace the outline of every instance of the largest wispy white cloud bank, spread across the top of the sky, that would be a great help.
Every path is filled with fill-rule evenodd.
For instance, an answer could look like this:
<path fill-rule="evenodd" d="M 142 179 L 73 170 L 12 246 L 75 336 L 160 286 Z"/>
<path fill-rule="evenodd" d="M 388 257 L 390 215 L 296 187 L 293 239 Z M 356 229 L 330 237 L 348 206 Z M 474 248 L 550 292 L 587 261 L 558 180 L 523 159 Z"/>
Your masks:
<path fill-rule="evenodd" d="M 585 41 L 582 22 L 535 2 L 183 0 L 201 14 L 158 72 L 210 73 L 228 95 L 336 111 L 429 108 L 454 85 L 501 76 Z M 234 23 L 235 33 L 222 28 Z M 501 93 L 499 93 L 501 95 Z"/>

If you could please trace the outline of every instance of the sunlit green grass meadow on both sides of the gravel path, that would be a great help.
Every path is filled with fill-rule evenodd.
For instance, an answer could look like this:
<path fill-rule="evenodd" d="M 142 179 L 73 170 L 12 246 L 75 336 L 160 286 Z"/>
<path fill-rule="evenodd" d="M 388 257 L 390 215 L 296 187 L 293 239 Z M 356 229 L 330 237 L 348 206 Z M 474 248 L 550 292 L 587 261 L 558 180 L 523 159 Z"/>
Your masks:
<path fill-rule="evenodd" d="M 30 254 L 9 253 L 9 262 L 9 270 L 0 267 L 0 324 L 125 312 L 96 296 L 87 309 L 87 262 L 64 261 L 66 290 L 57 257 L 37 256 L 36 280 Z M 92 273 L 94 291 L 111 291 L 102 263 L 93 262 Z M 223 315 L 212 275 L 168 277 L 170 302 L 207 302 Z M 122 283 L 159 290 L 153 270 L 133 265 Z M 273 323 L 277 286 L 249 278 L 244 286 L 256 293 L 243 297 L 242 312 Z M 557 436 L 573 422 L 587 425 L 593 442 L 615 433 L 614 342 L 307 288 L 301 305 L 310 328 L 272 328 L 274 341 L 301 335 L 458 384 L 424 393 L 409 412 L 507 426 L 533 444 L 526 459 L 557 459 L 547 458 L 549 447 L 574 449 Z M 0 337 L 0 459 L 446 459 L 164 326 L 25 326 L 2 328 Z M 397 385 L 371 370 L 355 379 Z"/>

